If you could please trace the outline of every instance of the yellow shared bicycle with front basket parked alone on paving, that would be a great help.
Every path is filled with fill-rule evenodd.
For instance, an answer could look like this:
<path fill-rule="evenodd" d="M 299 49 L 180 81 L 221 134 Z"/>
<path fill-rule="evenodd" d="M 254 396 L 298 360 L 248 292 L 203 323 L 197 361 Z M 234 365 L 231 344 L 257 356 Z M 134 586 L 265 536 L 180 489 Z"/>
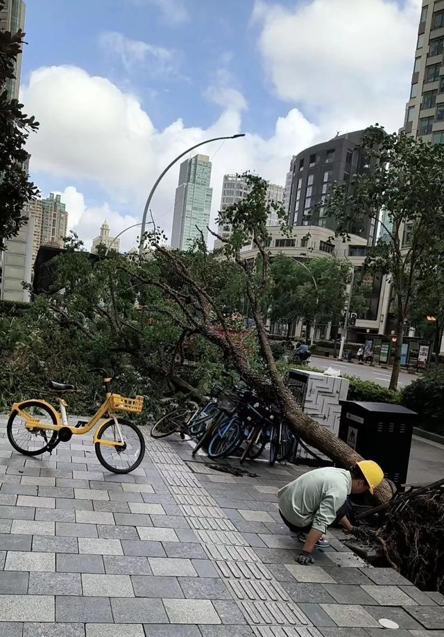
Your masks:
<path fill-rule="evenodd" d="M 68 442 L 73 435 L 81 436 L 97 424 L 93 442 L 100 463 L 108 471 L 129 473 L 144 459 L 145 440 L 133 422 L 117 416 L 116 412 L 140 413 L 144 399 L 142 396 L 123 398 L 113 394 L 110 392 L 113 379 L 106 377 L 105 370 L 94 369 L 89 372 L 103 372 L 106 392 L 103 404 L 89 422 L 79 421 L 74 427 L 68 424 L 67 403 L 62 395 L 77 390 L 74 385 L 51 381 L 50 391 L 57 396 L 60 412 L 42 399 L 14 403 L 6 427 L 9 441 L 20 454 L 38 456 L 44 452 L 51 453 L 59 442 Z"/>

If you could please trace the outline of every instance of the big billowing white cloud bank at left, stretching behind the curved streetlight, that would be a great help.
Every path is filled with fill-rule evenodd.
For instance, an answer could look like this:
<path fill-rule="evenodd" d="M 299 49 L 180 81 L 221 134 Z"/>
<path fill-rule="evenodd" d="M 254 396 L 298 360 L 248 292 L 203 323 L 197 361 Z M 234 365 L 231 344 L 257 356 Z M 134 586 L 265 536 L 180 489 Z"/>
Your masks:
<path fill-rule="evenodd" d="M 54 94 L 57 99 L 53 99 Z M 71 224 L 88 241 L 98 234 L 105 216 L 114 234 L 137 223 L 151 186 L 171 159 L 205 139 L 241 132 L 245 108 L 239 92 L 225 92 L 221 115 L 207 129 L 187 127 L 178 119 L 158 131 L 137 97 L 78 67 L 37 69 L 22 87 L 21 99 L 26 111 L 40 121 L 40 130 L 28 143 L 31 172 L 65 179 L 70 188 L 63 197 L 75 220 L 72 223 L 71 219 Z M 221 201 L 223 174 L 253 169 L 283 185 L 291 155 L 318 141 L 319 135 L 317 127 L 292 108 L 278 119 L 270 138 L 248 133 L 246 138 L 227 140 L 222 147 L 216 142 L 199 149 L 210 158 L 215 155 L 213 218 Z M 167 173 L 153 199 L 155 221 L 168 235 L 178 169 L 177 165 Z M 101 188 L 109 203 L 89 207 L 76 188 L 80 179 Z M 137 229 L 133 235 L 128 233 L 128 237 L 135 235 Z M 126 240 L 122 246 L 130 247 Z"/>

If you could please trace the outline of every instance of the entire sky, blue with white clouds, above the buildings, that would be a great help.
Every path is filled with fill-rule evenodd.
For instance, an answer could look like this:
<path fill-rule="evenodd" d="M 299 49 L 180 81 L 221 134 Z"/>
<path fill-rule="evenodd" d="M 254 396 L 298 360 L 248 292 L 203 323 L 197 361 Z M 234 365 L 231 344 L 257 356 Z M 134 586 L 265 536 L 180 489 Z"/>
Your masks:
<path fill-rule="evenodd" d="M 65 195 L 87 242 L 103 215 L 114 231 L 137 222 L 157 173 L 210 133 L 248 133 L 203 147 L 214 216 L 225 172 L 255 169 L 283 185 L 291 155 L 311 143 L 402 124 L 420 0 L 26 5 L 22 97 L 42 122 L 31 174 L 44 195 Z M 167 233 L 171 173 L 155 202 Z"/>

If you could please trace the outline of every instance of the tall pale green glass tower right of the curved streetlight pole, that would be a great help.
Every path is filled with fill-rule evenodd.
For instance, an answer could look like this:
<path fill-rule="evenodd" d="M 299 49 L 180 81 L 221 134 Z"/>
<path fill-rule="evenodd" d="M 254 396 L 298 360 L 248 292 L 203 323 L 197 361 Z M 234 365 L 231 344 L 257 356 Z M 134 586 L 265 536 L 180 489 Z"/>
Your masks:
<path fill-rule="evenodd" d="M 196 155 L 180 164 L 171 235 L 173 248 L 189 249 L 201 236 L 200 232 L 207 241 L 213 195 L 210 188 L 211 167 L 207 155 Z"/>

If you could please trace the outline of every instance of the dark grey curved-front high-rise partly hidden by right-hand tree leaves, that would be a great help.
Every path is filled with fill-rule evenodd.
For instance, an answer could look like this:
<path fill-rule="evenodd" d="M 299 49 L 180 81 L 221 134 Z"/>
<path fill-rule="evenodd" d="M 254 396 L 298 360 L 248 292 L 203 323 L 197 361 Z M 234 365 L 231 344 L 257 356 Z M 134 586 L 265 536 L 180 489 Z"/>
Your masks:
<path fill-rule="evenodd" d="M 350 175 L 370 169 L 368 158 L 359 147 L 364 131 L 336 135 L 322 144 L 305 149 L 292 160 L 289 224 L 321 226 L 336 230 L 336 220 L 327 216 L 323 206 L 332 183 L 348 184 Z M 351 188 L 351 186 L 350 186 Z M 373 243 L 375 222 L 367 215 L 350 226 L 350 233 Z"/>

